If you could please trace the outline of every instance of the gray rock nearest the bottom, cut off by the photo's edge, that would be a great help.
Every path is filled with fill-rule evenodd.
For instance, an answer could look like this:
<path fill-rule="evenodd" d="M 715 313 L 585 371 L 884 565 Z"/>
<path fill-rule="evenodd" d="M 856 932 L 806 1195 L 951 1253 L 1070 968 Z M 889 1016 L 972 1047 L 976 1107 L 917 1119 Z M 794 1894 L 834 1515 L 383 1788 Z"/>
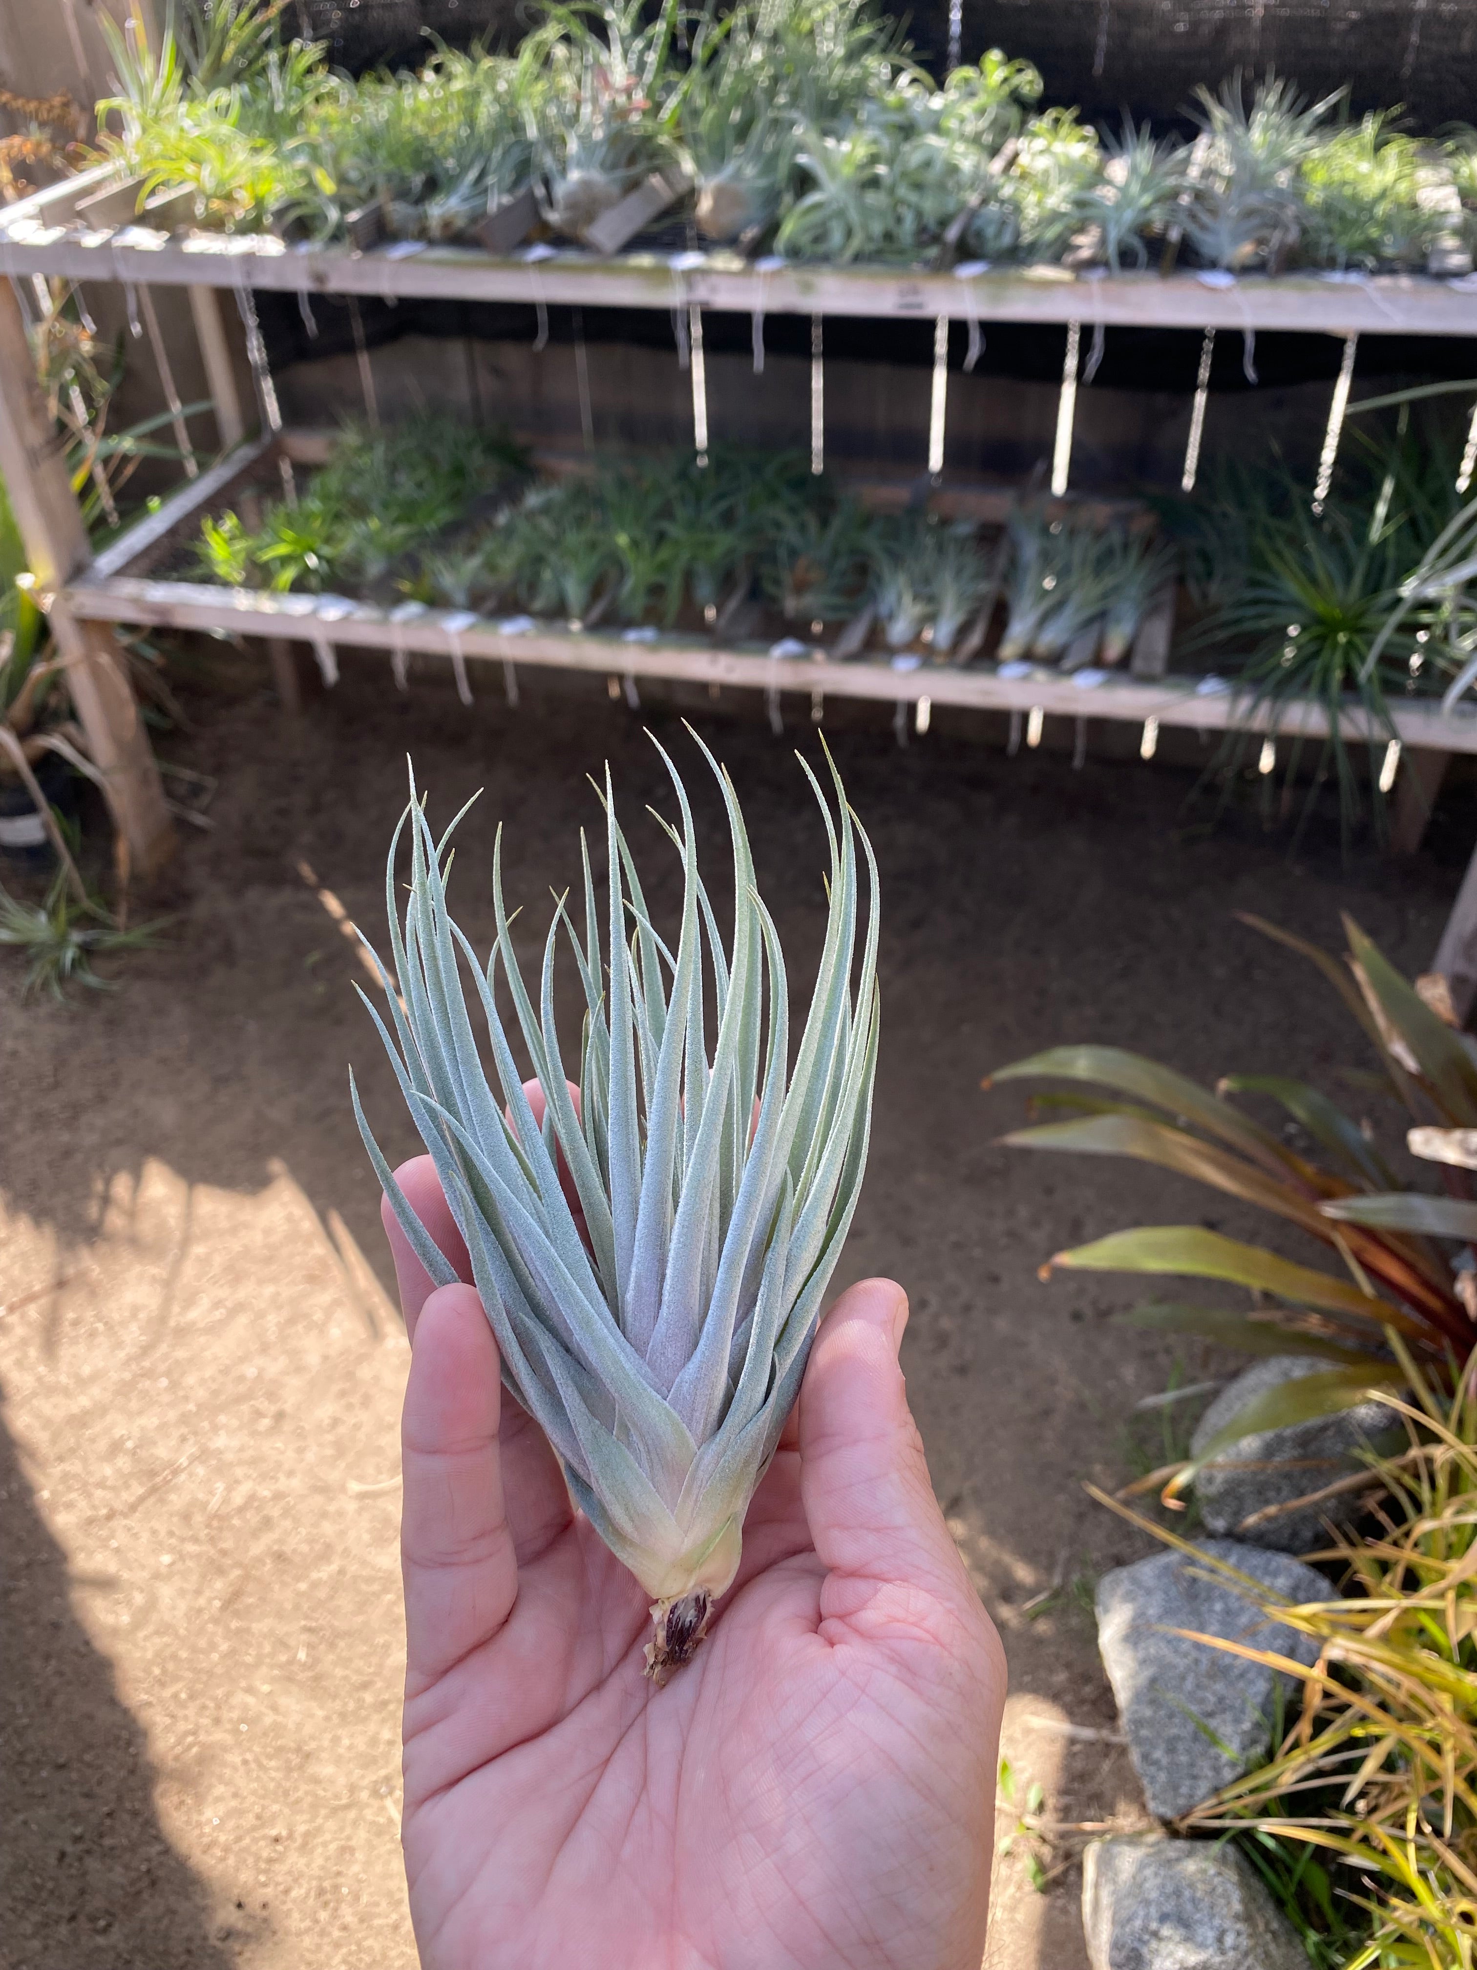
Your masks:
<path fill-rule="evenodd" d="M 1093 1840 L 1081 1921 L 1091 1970 L 1308 1970 L 1251 1866 L 1209 1840 Z"/>

